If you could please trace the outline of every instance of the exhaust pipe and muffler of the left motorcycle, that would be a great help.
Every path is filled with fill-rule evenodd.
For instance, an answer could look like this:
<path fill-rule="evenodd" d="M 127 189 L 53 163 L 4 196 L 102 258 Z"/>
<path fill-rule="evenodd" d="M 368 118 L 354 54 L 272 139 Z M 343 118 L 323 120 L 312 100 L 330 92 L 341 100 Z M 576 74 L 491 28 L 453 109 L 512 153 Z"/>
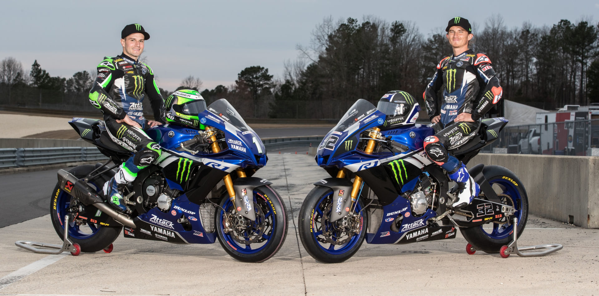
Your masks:
<path fill-rule="evenodd" d="M 111 216 L 116 221 L 125 226 L 136 228 L 135 223 L 131 218 L 122 213 L 113 210 L 110 206 L 104 203 L 102 198 L 96 194 L 96 190 L 89 187 L 85 182 L 77 179 L 74 175 L 66 170 L 58 170 L 58 184 L 60 189 L 70 194 L 75 199 L 79 200 L 83 205 L 93 205 L 108 216 Z"/>

